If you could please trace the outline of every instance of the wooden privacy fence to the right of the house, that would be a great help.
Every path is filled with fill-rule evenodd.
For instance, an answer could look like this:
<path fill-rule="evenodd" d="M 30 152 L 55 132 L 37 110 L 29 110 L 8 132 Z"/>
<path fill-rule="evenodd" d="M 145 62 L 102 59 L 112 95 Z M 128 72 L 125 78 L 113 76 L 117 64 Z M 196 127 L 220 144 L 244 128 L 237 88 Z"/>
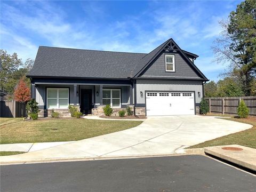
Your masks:
<path fill-rule="evenodd" d="M 235 115 L 237 115 L 237 108 L 242 99 L 249 108 L 249 115 L 256 115 L 256 96 L 205 98 L 209 103 L 210 113 Z"/>

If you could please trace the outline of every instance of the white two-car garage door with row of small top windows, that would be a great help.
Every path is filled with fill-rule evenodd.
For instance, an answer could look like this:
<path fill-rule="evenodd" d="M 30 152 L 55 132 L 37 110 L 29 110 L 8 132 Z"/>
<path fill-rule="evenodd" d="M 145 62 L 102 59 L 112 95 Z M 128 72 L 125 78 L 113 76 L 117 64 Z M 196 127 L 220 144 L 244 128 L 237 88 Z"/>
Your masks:
<path fill-rule="evenodd" d="M 147 116 L 195 115 L 194 92 L 147 92 Z"/>

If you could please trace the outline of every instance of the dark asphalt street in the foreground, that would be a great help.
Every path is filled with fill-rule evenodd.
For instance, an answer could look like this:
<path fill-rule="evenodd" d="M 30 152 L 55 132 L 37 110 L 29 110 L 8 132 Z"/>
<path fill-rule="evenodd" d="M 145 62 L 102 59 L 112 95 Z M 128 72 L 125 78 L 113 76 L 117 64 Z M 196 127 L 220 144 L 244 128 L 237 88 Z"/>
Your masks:
<path fill-rule="evenodd" d="M 256 191 L 256 177 L 189 155 L 1 166 L 1 191 Z"/>

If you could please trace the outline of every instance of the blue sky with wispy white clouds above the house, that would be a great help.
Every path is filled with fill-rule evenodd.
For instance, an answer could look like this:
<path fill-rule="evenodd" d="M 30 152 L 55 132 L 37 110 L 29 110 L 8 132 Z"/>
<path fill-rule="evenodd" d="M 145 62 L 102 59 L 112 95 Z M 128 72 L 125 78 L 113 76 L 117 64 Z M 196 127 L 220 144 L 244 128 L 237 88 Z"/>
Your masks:
<path fill-rule="evenodd" d="M 199 55 L 211 80 L 225 66 L 211 46 L 241 1 L 1 1 L 1 49 L 35 59 L 39 45 L 148 53 L 169 38 Z"/>

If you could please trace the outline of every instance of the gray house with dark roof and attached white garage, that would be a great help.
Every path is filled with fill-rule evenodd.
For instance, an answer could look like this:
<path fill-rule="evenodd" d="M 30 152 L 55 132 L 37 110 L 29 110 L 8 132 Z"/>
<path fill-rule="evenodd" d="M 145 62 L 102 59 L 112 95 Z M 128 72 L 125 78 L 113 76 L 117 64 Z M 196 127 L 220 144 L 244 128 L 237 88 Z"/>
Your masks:
<path fill-rule="evenodd" d="M 195 66 L 198 55 L 168 39 L 150 53 L 126 53 L 39 46 L 27 77 L 39 116 L 51 110 L 69 115 L 103 115 L 131 106 L 135 115 L 194 115 L 209 81 Z"/>

